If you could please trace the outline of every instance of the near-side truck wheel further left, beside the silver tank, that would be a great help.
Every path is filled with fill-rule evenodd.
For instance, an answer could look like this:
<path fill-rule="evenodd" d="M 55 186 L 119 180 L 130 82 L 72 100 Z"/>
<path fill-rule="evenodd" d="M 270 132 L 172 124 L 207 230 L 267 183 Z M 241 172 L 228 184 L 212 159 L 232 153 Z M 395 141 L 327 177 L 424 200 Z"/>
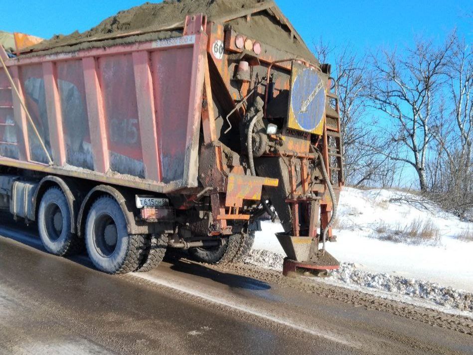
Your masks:
<path fill-rule="evenodd" d="M 79 237 L 71 233 L 71 211 L 59 187 L 49 188 L 41 198 L 38 231 L 44 248 L 51 254 L 66 256 L 81 250 Z"/>

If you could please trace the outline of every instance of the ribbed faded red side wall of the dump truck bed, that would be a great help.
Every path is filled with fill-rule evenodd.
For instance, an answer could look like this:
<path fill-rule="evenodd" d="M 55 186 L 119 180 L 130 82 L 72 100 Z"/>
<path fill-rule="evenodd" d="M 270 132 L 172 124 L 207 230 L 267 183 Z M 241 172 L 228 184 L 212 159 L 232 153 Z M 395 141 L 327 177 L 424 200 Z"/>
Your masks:
<path fill-rule="evenodd" d="M 0 68 L 0 164 L 157 192 L 196 187 L 206 44 L 190 24 L 174 38 L 4 58 L 19 95 Z"/>

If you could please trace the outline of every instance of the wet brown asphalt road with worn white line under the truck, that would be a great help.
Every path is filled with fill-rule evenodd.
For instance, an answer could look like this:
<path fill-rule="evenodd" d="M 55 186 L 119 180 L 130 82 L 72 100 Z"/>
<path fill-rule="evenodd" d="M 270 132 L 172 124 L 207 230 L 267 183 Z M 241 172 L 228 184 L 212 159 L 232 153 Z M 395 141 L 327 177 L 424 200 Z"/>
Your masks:
<path fill-rule="evenodd" d="M 0 218 L 0 354 L 473 354 L 471 335 L 186 260 L 106 275 Z"/>

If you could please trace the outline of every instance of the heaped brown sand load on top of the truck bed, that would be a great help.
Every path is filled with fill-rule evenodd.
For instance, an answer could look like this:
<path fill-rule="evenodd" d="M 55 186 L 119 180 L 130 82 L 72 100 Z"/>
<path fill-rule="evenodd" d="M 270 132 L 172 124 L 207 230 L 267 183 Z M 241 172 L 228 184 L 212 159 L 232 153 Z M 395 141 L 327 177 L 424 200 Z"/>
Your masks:
<path fill-rule="evenodd" d="M 182 35 L 183 19 L 188 14 L 203 13 L 208 21 L 226 23 L 237 32 L 259 38 L 276 48 L 316 62 L 307 46 L 294 37 L 294 28 L 285 28 L 274 21 L 276 4 L 272 0 L 164 0 L 145 3 L 103 20 L 88 31 L 69 35 L 54 35 L 51 39 L 28 48 L 43 54 L 70 52 L 80 49 L 107 47 Z M 273 8 L 273 9 L 272 9 Z M 258 11 L 261 9 L 261 11 Z M 257 12 L 254 12 L 257 11 Z M 252 21 L 242 19 L 252 14 Z M 278 13 L 279 16 L 283 16 Z M 289 22 L 288 22 L 289 23 Z M 284 36 L 286 34 L 286 36 Z M 46 51 L 46 53 L 45 53 Z"/>

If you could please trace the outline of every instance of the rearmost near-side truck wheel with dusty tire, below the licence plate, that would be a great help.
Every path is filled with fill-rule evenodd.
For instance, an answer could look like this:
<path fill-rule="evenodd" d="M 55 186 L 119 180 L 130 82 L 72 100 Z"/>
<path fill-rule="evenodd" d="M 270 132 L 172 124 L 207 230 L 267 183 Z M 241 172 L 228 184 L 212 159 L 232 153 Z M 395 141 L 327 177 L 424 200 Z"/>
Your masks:
<path fill-rule="evenodd" d="M 122 208 L 110 196 L 98 198 L 90 208 L 85 242 L 92 263 L 109 274 L 135 271 L 145 249 L 145 237 L 128 234 Z"/>

